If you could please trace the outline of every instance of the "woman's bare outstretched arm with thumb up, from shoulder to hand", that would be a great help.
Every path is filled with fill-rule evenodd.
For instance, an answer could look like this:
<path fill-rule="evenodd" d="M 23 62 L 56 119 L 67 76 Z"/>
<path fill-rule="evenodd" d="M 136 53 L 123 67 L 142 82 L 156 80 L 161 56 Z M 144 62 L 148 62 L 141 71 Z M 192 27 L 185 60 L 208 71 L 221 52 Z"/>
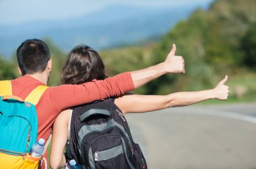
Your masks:
<path fill-rule="evenodd" d="M 115 99 L 115 104 L 123 113 L 141 113 L 155 111 L 167 107 L 192 105 L 207 99 L 226 100 L 228 87 L 224 83 L 228 76 L 218 83 L 214 89 L 196 92 L 179 92 L 170 95 L 123 95 Z"/>

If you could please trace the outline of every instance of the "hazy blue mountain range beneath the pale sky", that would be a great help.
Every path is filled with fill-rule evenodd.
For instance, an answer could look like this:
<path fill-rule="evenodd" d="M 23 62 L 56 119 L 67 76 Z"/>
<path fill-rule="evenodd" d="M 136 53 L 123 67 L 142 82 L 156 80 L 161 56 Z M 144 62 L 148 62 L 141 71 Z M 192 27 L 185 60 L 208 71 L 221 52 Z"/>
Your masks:
<path fill-rule="evenodd" d="M 65 52 L 77 44 L 100 50 L 139 43 L 161 37 L 194 9 L 192 6 L 170 9 L 114 5 L 81 17 L 0 25 L 0 54 L 9 58 L 30 38 L 50 38 Z"/>

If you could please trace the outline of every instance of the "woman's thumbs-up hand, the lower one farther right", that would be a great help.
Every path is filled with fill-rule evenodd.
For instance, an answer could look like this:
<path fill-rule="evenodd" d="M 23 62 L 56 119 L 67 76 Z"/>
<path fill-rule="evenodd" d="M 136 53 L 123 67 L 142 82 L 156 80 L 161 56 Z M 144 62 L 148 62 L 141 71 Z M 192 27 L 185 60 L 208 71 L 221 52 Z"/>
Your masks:
<path fill-rule="evenodd" d="M 218 99 L 221 101 L 225 101 L 226 99 L 228 99 L 229 87 L 224 84 L 226 80 L 228 80 L 227 75 L 214 88 L 215 99 Z"/>

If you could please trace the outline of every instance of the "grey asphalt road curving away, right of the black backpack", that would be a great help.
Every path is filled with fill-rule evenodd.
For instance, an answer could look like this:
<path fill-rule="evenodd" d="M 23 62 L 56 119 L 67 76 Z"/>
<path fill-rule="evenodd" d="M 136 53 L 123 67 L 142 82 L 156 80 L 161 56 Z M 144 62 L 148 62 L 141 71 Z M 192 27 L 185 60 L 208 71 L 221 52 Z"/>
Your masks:
<path fill-rule="evenodd" d="M 149 168 L 256 168 L 256 103 L 126 115 Z"/>

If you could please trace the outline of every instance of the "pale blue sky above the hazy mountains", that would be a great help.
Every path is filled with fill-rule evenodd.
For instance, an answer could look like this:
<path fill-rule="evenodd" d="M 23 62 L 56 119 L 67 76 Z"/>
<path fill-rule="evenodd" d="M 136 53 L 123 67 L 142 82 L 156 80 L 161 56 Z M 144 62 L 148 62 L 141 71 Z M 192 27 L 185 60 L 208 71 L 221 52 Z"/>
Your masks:
<path fill-rule="evenodd" d="M 34 20 L 66 19 L 86 15 L 115 4 L 138 7 L 182 7 L 212 0 L 0 0 L 0 25 Z"/>

